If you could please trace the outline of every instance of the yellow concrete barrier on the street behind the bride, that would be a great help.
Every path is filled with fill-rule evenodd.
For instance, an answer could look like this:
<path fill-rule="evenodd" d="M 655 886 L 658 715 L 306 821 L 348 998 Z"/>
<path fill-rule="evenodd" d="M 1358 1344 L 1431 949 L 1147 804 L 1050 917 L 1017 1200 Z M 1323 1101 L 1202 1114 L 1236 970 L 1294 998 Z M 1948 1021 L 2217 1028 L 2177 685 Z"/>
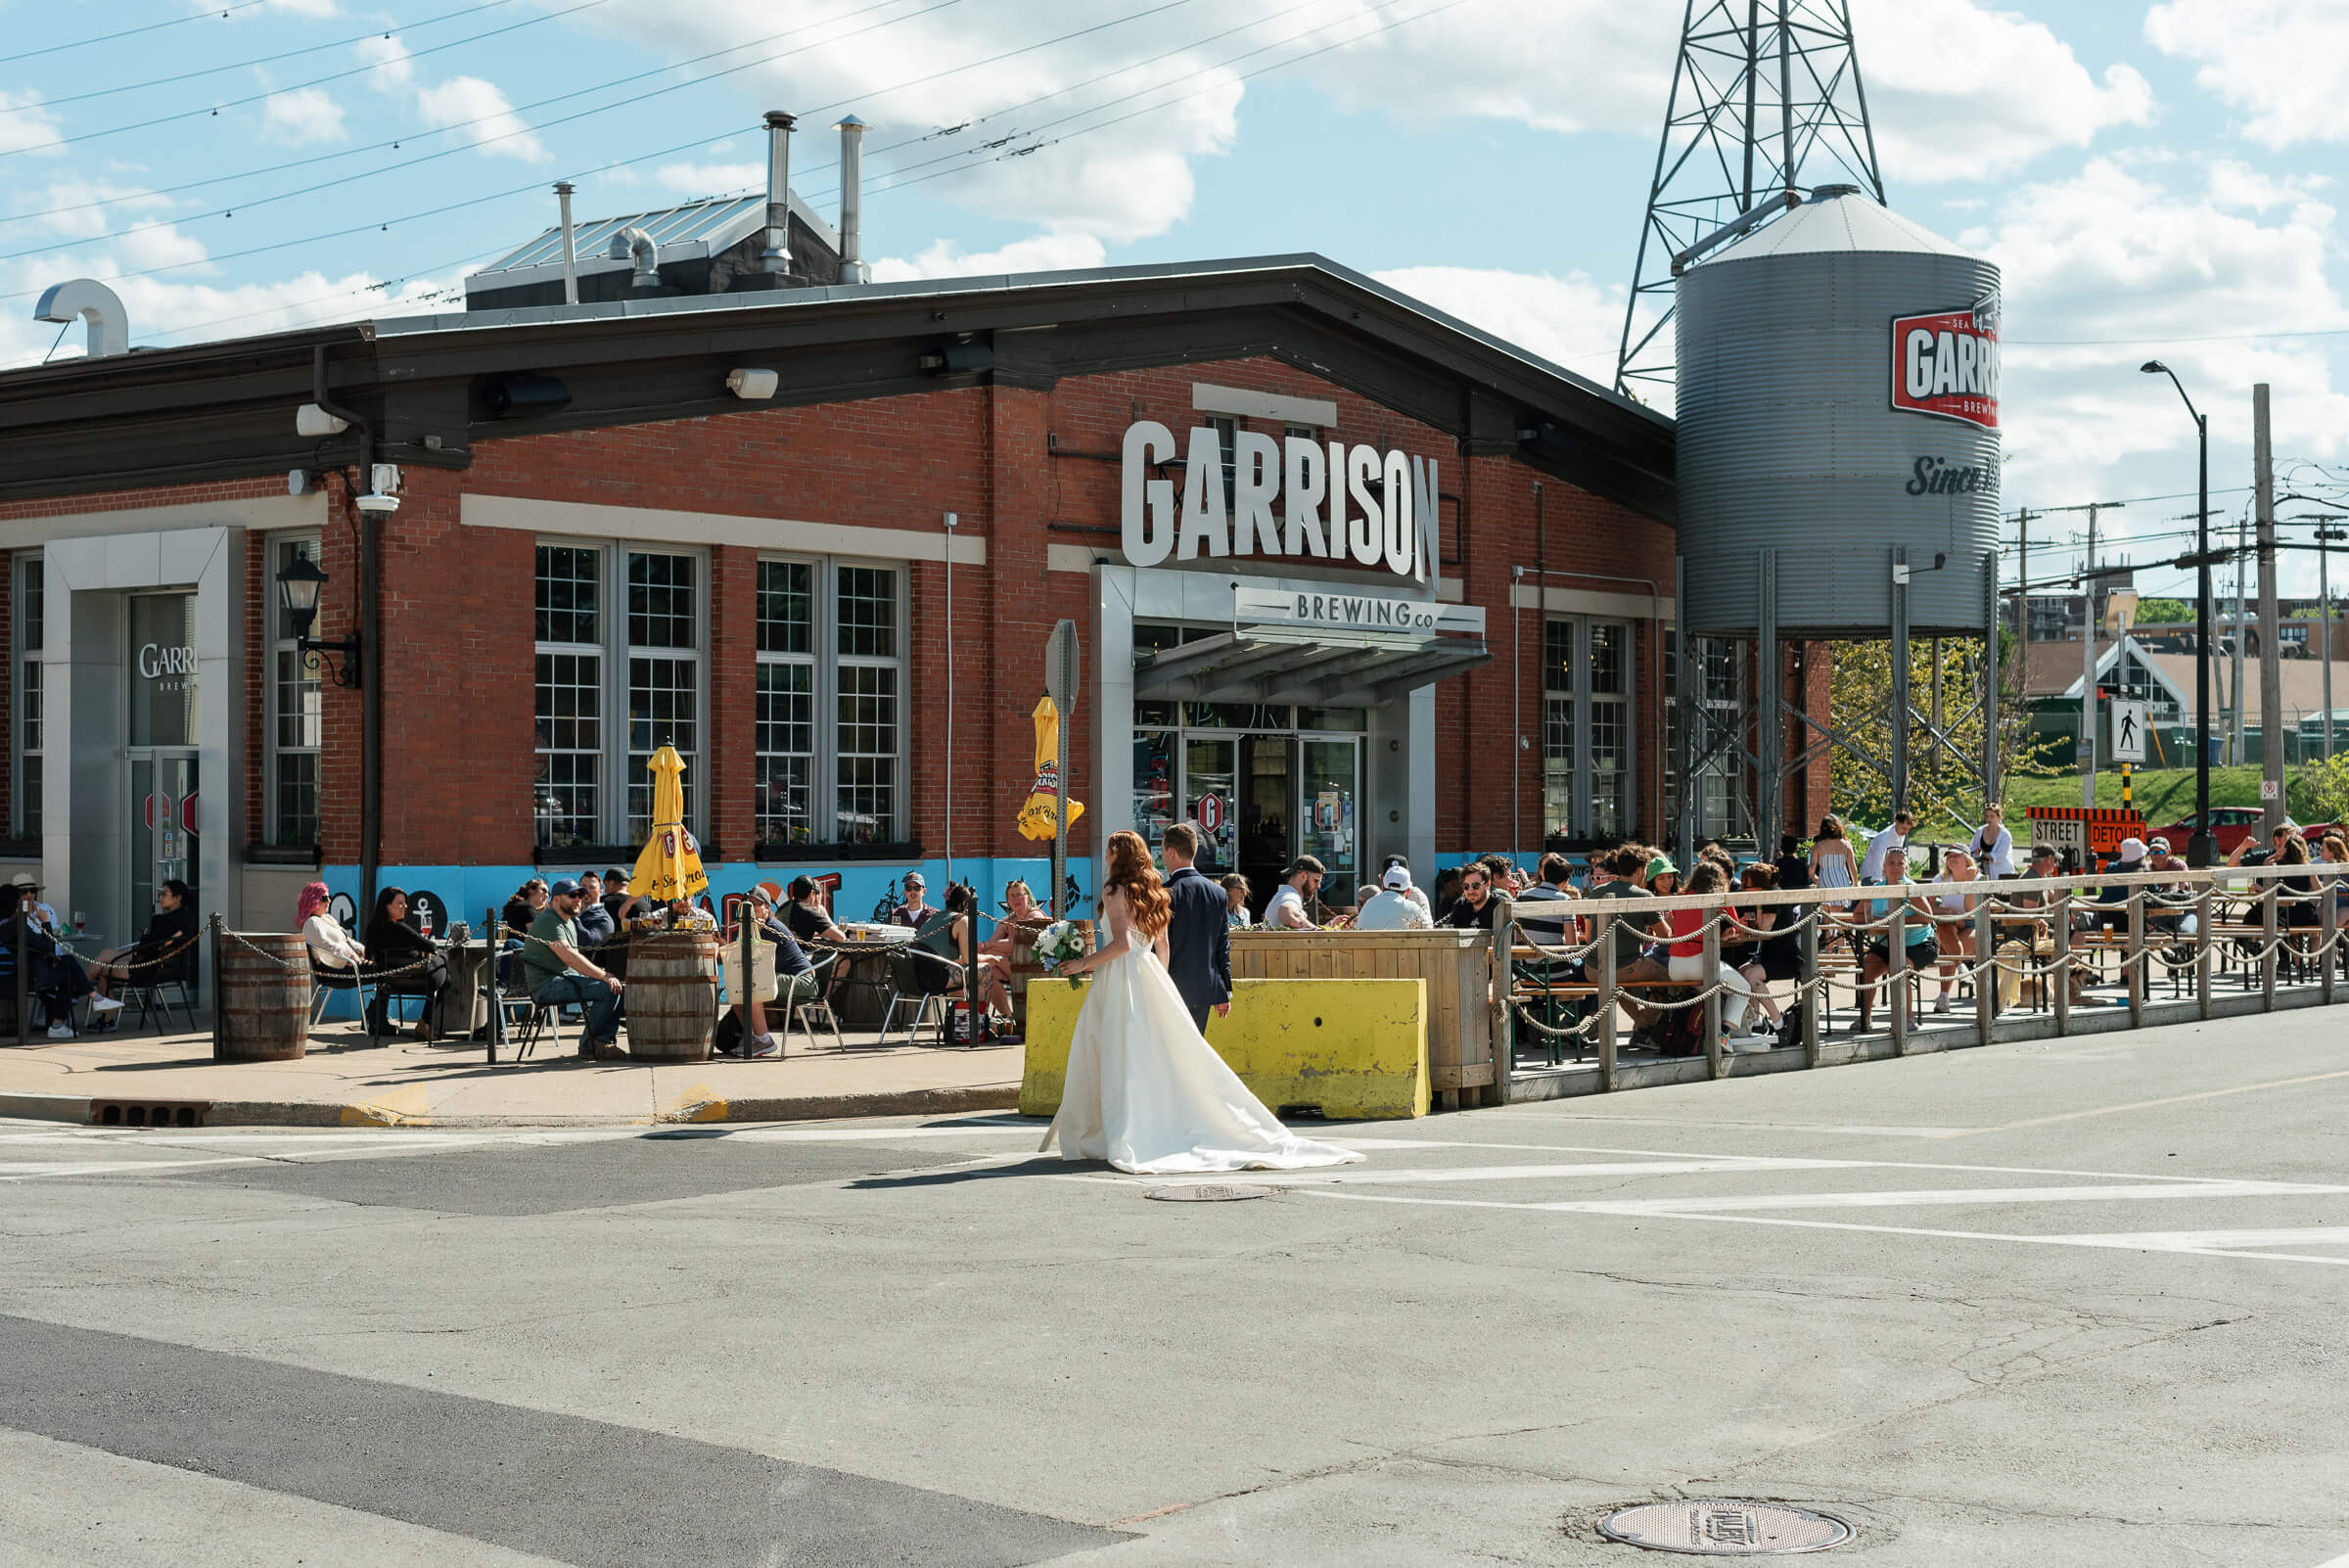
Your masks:
<path fill-rule="evenodd" d="M 1052 1115 L 1085 981 L 1029 981 L 1019 1110 Z M 1428 1113 L 1428 995 L 1421 979 L 1233 981 L 1231 1016 L 1207 1045 L 1276 1113 L 1320 1106 L 1341 1120 Z"/>

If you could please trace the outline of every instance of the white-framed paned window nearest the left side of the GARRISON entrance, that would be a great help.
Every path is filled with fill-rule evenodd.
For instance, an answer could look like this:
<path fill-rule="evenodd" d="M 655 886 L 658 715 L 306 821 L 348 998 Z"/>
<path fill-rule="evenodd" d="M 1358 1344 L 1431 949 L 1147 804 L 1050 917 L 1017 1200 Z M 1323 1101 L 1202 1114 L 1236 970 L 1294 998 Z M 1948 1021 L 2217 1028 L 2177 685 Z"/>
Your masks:
<path fill-rule="evenodd" d="M 904 840 L 904 575 L 759 563 L 761 845 Z"/>

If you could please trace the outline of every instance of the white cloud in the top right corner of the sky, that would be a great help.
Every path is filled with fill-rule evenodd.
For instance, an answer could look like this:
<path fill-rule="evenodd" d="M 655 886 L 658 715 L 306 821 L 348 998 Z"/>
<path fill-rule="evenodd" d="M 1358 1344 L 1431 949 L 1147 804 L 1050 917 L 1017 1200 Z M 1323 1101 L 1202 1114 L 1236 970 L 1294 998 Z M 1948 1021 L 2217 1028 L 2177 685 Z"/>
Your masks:
<path fill-rule="evenodd" d="M 2166 0 L 2145 38 L 2196 61 L 2196 87 L 2243 110 L 2264 148 L 2349 141 L 2349 9 L 2340 0 Z"/>

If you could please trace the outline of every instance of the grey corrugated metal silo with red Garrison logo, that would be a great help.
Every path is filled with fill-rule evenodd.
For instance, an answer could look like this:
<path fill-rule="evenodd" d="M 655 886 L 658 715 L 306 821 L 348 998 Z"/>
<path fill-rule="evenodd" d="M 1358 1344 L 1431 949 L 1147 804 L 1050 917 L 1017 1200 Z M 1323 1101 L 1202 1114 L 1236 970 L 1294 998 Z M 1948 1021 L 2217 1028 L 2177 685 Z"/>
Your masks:
<path fill-rule="evenodd" d="M 1752 636 L 1776 549 L 1778 636 L 1889 636 L 1905 547 L 1910 634 L 1980 636 L 1999 270 L 1830 185 L 1691 265 L 1677 298 L 1687 627 Z"/>

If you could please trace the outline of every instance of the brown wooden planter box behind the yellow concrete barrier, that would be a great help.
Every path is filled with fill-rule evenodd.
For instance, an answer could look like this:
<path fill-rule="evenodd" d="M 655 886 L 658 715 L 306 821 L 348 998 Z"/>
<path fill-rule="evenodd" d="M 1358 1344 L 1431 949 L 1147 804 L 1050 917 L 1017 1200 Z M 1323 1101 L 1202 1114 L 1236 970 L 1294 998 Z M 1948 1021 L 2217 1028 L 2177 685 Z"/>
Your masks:
<path fill-rule="evenodd" d="M 1428 1087 L 1445 1110 L 1492 1082 L 1489 932 L 1233 932 L 1231 979 L 1421 979 Z"/>

